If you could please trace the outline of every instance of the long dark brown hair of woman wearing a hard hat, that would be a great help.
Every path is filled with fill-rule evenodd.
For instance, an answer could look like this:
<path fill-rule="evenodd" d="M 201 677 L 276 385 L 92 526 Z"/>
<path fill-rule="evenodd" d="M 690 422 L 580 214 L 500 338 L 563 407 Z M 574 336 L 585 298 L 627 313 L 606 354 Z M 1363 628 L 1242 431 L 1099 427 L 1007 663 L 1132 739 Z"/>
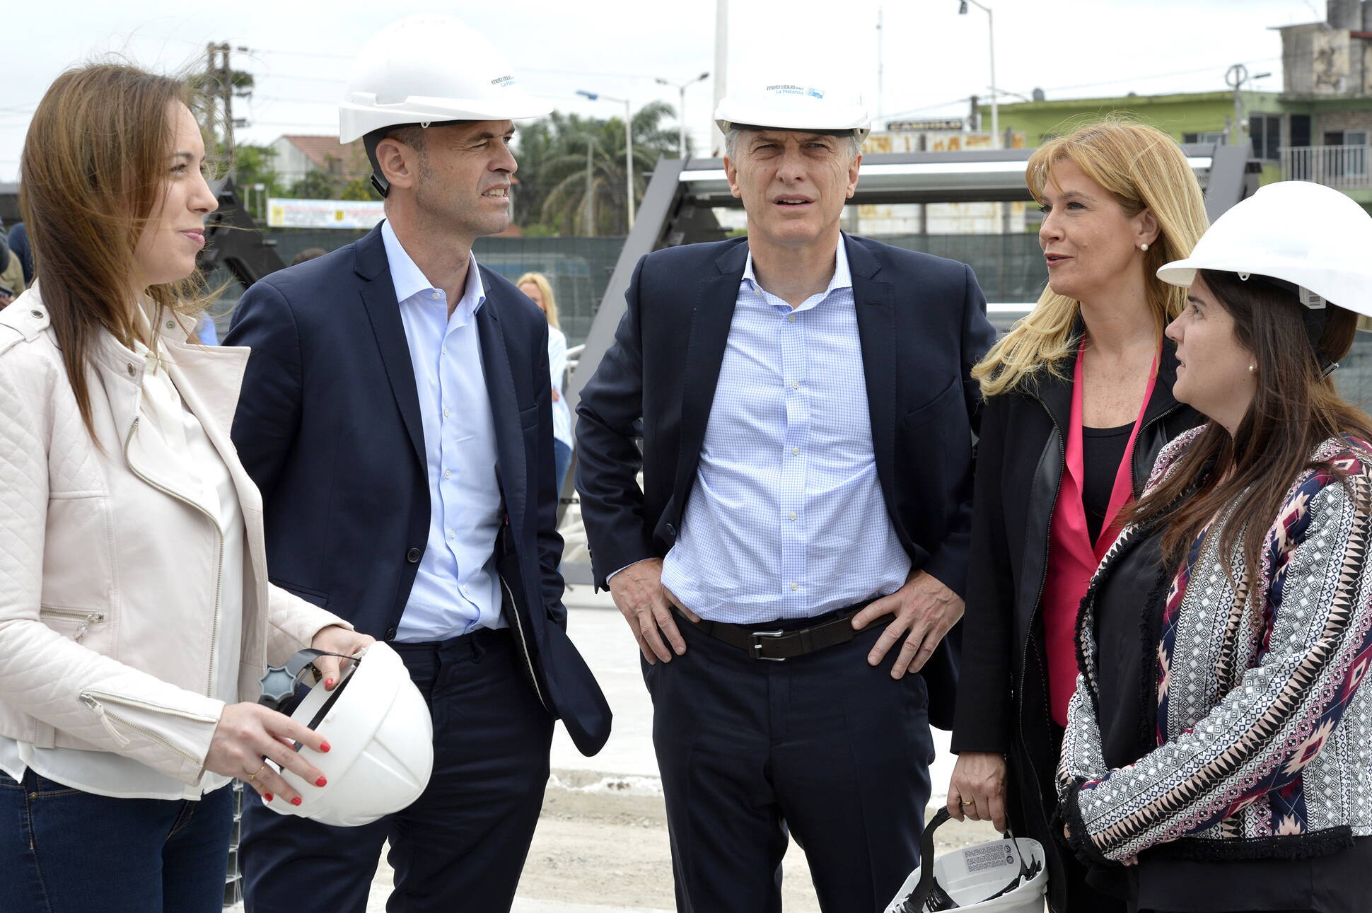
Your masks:
<path fill-rule="evenodd" d="M 1310 453 L 1340 435 L 1372 441 L 1372 419 L 1339 395 L 1318 358 L 1347 354 L 1357 314 L 1328 309 L 1317 356 L 1292 286 L 1266 276 L 1244 281 L 1229 272 L 1199 275 L 1233 317 L 1236 342 L 1253 356 L 1257 393 L 1233 437 L 1218 421 L 1205 426 L 1172 475 L 1135 505 L 1131 522 L 1163 520 L 1163 560 L 1177 567 L 1206 524 L 1236 502 L 1220 533 L 1220 555 L 1232 555 L 1242 537 L 1244 566 L 1253 573 L 1297 476 L 1308 468 L 1339 475 L 1312 463 Z"/>

